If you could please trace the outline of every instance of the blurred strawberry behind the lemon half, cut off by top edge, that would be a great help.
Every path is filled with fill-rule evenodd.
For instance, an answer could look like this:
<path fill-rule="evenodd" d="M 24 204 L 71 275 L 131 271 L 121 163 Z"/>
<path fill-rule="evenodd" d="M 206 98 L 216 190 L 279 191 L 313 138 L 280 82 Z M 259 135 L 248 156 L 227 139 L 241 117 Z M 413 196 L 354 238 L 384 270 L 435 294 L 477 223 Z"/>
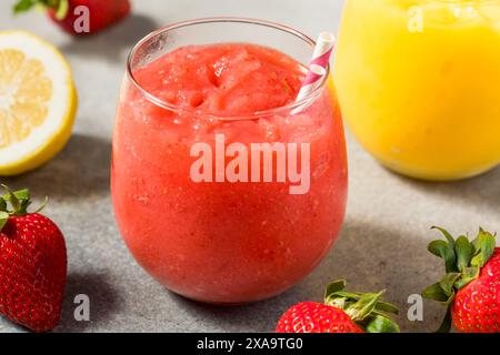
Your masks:
<path fill-rule="evenodd" d="M 126 18 L 131 8 L 129 0 L 19 0 L 14 12 L 27 11 L 33 6 L 44 8 L 59 27 L 76 36 L 99 32 Z M 88 21 L 83 18 L 87 13 Z"/>

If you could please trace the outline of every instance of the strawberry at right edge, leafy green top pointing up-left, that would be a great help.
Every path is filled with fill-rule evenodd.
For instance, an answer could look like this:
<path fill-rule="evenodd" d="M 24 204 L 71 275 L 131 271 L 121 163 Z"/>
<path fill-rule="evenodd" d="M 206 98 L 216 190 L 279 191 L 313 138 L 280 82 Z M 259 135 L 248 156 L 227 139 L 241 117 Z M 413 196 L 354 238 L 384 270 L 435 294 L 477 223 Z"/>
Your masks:
<path fill-rule="evenodd" d="M 467 236 L 454 240 L 443 229 L 447 241 L 434 241 L 429 251 L 444 260 L 446 275 L 422 292 L 427 298 L 447 306 L 447 315 L 438 332 L 449 332 L 451 323 L 459 332 L 500 332 L 500 248 L 496 235 L 479 230 L 470 242 Z"/>

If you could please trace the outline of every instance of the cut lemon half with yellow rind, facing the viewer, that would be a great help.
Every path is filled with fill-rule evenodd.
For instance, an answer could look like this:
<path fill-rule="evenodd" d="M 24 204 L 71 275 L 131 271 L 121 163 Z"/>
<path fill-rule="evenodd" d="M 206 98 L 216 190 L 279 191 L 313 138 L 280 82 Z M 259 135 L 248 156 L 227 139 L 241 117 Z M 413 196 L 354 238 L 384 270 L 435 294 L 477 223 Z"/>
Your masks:
<path fill-rule="evenodd" d="M 66 145 L 78 106 L 71 69 L 50 43 L 0 32 L 0 175 L 33 170 Z"/>

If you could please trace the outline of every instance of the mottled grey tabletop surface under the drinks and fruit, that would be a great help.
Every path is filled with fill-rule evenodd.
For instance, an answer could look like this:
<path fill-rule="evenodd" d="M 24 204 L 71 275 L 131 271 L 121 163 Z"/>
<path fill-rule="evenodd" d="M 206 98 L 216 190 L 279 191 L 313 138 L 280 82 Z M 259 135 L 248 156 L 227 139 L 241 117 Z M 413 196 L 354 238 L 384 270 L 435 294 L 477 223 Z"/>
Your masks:
<path fill-rule="evenodd" d="M 426 304 L 423 323 L 406 320 L 408 295 L 441 273 L 426 252 L 436 236 L 429 226 L 500 231 L 500 170 L 450 184 L 397 176 L 380 168 L 349 139 L 350 199 L 343 230 L 330 255 L 301 284 L 280 297 L 220 308 L 178 297 L 152 281 L 128 254 L 113 220 L 109 194 L 110 136 L 127 52 L 148 31 L 208 16 L 244 16 L 290 24 L 314 36 L 337 30 L 341 0 L 142 0 L 136 13 L 104 36 L 74 40 L 37 14 L 13 18 L 12 1 L 0 2 L 0 30 L 27 29 L 61 48 L 74 71 L 80 110 L 66 150 L 37 172 L 8 179 L 51 201 L 44 213 L 64 232 L 69 280 L 57 332 L 267 332 L 289 305 L 319 301 L 329 280 L 346 276 L 362 291 L 388 288 L 403 312 L 403 331 L 433 329 L 438 306 Z M 313 4 L 311 14 L 308 9 Z M 6 181 L 6 179 L 2 179 Z M 73 321 L 72 300 L 91 298 L 91 322 Z M 19 332 L 0 318 L 0 332 Z"/>

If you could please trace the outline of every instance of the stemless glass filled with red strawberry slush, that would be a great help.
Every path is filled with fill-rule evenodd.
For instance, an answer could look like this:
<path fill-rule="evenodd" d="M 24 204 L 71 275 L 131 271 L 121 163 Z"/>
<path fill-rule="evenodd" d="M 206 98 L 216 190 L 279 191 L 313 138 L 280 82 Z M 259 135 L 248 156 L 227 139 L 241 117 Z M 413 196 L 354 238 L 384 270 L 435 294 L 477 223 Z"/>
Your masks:
<path fill-rule="evenodd" d="M 273 23 L 206 19 L 132 50 L 113 205 L 136 260 L 171 291 L 216 304 L 271 297 L 333 244 L 348 173 L 331 80 L 294 102 L 313 45 Z"/>

